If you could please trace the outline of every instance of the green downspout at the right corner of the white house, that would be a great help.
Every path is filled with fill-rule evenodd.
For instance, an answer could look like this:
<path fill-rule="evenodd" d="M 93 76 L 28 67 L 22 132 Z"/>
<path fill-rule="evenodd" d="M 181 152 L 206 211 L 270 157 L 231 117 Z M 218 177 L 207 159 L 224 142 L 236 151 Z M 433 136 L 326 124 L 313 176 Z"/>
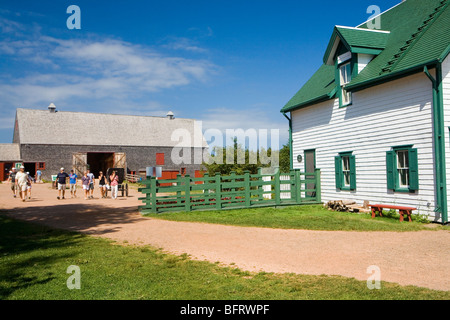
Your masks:
<path fill-rule="evenodd" d="M 442 224 L 448 222 L 447 211 L 447 177 L 445 165 L 445 129 L 444 129 L 444 96 L 442 90 L 442 65 L 436 64 L 436 78 L 428 71 L 427 66 L 423 72 L 430 79 L 433 86 L 433 138 L 434 138 L 434 158 L 435 158 L 435 188 L 436 188 L 436 209 L 441 213 Z"/>

